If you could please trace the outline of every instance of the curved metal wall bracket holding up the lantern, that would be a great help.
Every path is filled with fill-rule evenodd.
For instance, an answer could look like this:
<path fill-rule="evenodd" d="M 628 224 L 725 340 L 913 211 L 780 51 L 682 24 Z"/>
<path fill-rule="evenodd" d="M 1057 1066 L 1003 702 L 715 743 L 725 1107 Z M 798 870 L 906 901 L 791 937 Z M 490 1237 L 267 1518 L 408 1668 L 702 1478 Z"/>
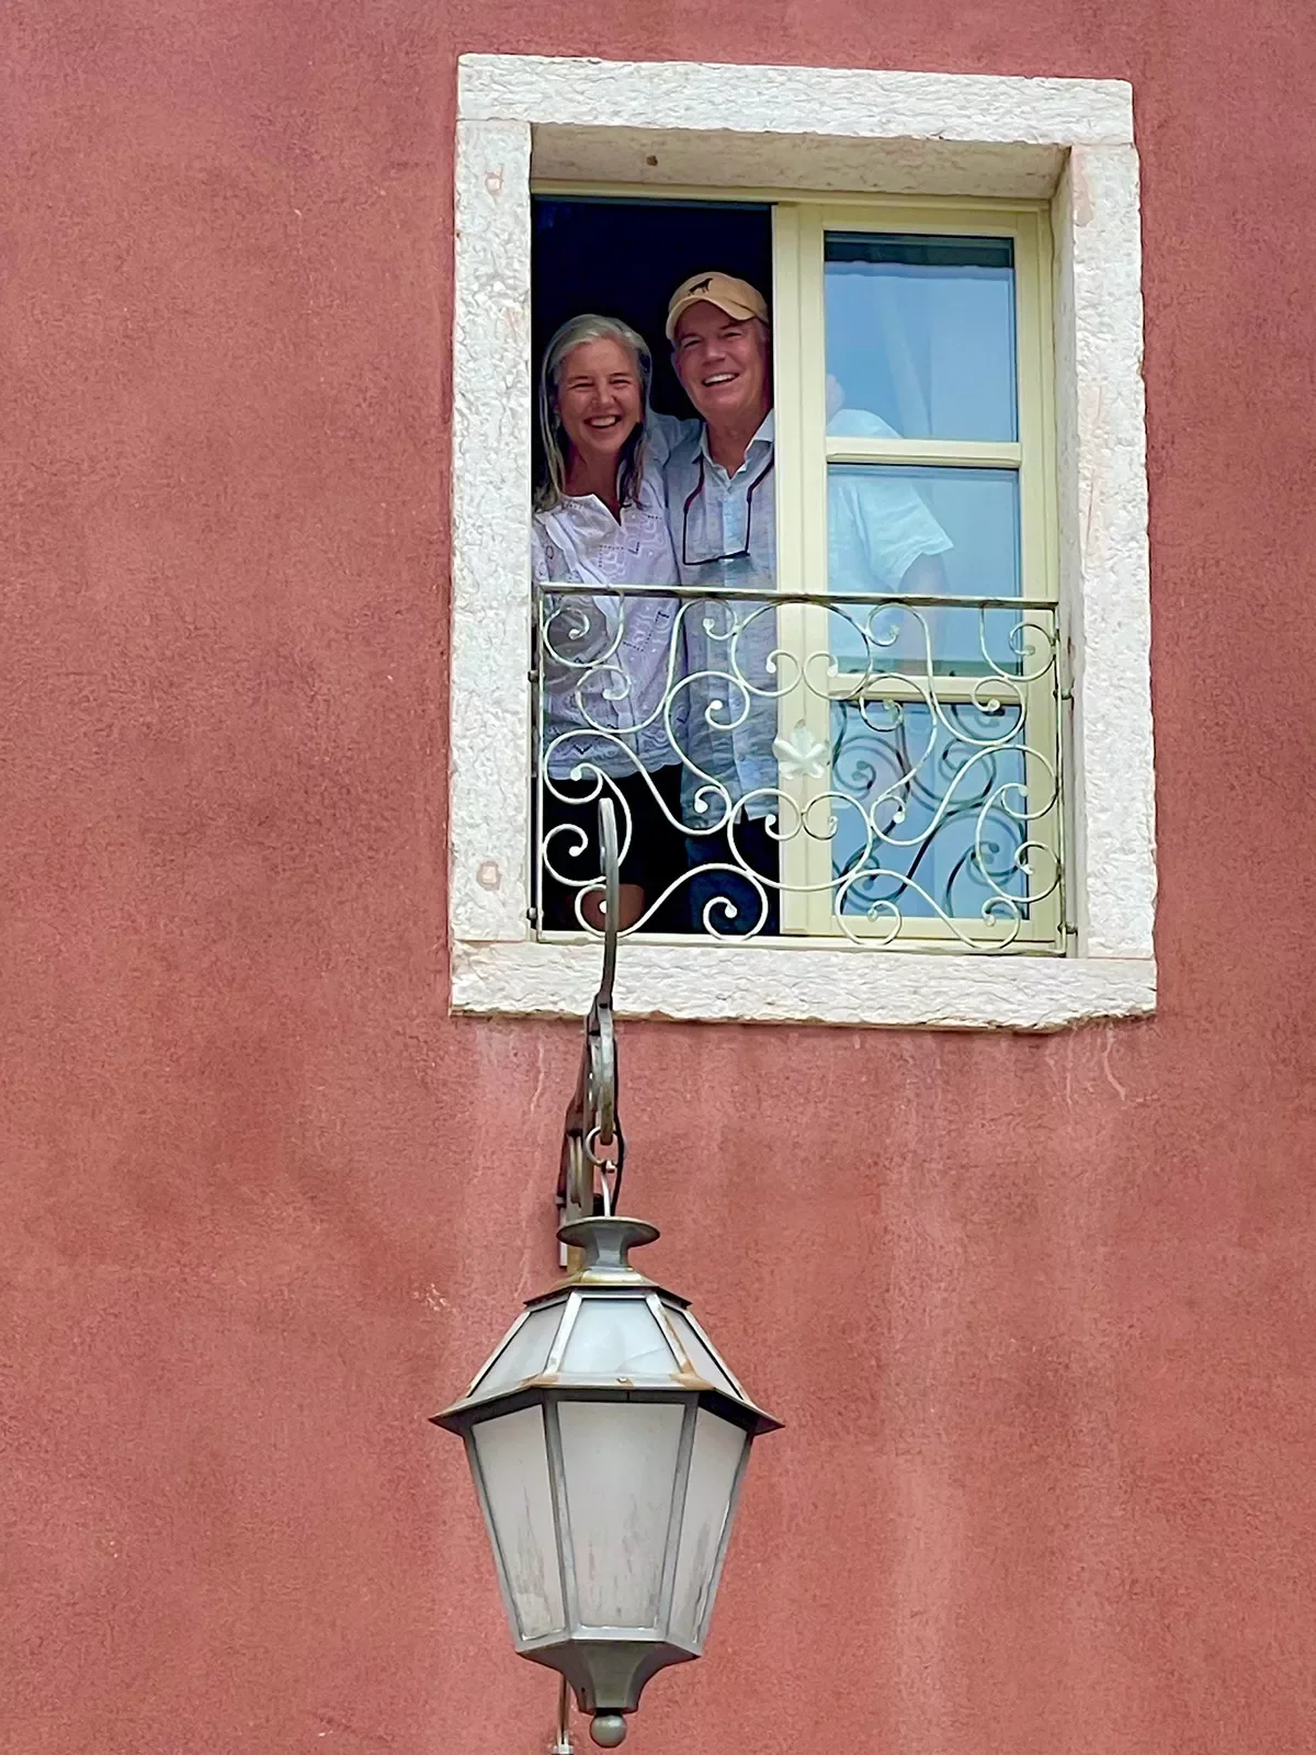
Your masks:
<path fill-rule="evenodd" d="M 612 1172 L 611 1195 L 616 1202 L 621 1188 L 621 1164 L 626 1155 L 626 1143 L 618 1121 L 618 1041 L 612 1025 L 621 872 L 618 818 L 611 799 L 602 799 L 598 804 L 598 844 L 604 858 L 604 971 L 584 1021 L 581 1071 L 567 1106 L 567 1123 L 561 1134 L 558 1207 L 567 1221 L 593 1216 L 595 1183 L 600 1171 Z M 611 1148 L 605 1157 L 600 1157 L 600 1146 Z"/>

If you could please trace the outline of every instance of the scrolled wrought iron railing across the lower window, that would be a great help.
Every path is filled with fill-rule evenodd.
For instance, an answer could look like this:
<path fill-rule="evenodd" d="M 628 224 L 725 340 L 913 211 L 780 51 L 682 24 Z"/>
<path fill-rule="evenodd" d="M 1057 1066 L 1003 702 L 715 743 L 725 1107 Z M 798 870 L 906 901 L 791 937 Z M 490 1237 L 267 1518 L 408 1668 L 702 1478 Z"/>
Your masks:
<path fill-rule="evenodd" d="M 539 586 L 533 684 L 540 935 L 607 795 L 623 876 L 667 846 L 628 932 L 1065 948 L 1055 604 Z"/>

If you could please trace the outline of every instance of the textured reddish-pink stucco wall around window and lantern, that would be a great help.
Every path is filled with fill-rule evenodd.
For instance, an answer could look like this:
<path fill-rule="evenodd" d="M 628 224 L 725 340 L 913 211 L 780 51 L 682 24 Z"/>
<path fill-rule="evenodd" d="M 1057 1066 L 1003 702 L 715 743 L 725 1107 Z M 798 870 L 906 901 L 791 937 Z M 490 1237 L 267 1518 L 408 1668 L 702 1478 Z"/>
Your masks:
<path fill-rule="evenodd" d="M 1316 77 L 1258 0 L 14 0 L 0 1746 L 535 1755 L 460 1446 L 576 1032 L 446 1016 L 465 49 L 1134 81 L 1160 1013 L 630 1025 L 762 1400 L 635 1755 L 1279 1755 L 1316 1681 Z M 625 979 L 625 971 L 623 971 Z"/>

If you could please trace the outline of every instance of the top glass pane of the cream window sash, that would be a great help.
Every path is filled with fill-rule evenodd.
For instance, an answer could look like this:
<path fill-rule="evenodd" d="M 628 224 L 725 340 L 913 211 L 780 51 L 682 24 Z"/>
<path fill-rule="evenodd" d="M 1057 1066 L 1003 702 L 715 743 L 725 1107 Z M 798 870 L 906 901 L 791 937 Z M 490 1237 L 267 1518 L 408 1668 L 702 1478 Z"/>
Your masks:
<path fill-rule="evenodd" d="M 828 432 L 1018 439 L 1012 239 L 828 232 L 825 284 Z"/>

